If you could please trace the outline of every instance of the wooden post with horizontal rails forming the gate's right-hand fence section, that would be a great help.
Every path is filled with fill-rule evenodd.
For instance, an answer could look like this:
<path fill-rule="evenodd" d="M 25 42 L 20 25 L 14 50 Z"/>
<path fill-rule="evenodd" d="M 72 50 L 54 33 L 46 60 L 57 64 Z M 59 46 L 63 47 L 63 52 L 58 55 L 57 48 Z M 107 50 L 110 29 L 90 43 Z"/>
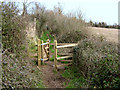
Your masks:
<path fill-rule="evenodd" d="M 57 71 L 57 68 L 60 67 L 60 66 L 68 66 L 68 65 L 71 65 L 72 63 L 68 63 L 68 64 L 62 64 L 62 65 L 57 65 L 57 61 L 67 61 L 67 62 L 72 62 L 72 60 L 60 60 L 60 59 L 65 59 L 65 58 L 70 58 L 72 56 L 64 56 L 64 57 L 58 57 L 57 58 L 57 49 L 60 49 L 60 48 L 66 48 L 66 47 L 74 47 L 74 46 L 77 46 L 78 44 L 75 43 L 75 44 L 70 44 L 69 45 L 63 45 L 62 43 L 60 43 L 59 45 L 62 45 L 62 46 L 57 46 L 59 43 L 57 43 L 57 40 L 54 40 L 54 67 L 55 67 L 55 70 Z"/>

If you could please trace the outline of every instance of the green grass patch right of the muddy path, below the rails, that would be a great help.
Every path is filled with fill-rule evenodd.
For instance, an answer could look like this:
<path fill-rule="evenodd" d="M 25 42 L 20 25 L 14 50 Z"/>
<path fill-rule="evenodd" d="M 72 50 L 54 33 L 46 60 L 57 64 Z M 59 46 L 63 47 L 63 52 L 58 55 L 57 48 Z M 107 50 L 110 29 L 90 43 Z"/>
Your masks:
<path fill-rule="evenodd" d="M 70 82 L 68 83 L 68 85 L 64 83 L 66 88 L 87 87 L 87 82 L 85 78 L 80 73 L 78 73 L 77 68 L 75 67 L 69 67 L 68 69 L 66 69 L 64 73 L 62 74 L 62 77 L 66 79 L 70 79 Z"/>

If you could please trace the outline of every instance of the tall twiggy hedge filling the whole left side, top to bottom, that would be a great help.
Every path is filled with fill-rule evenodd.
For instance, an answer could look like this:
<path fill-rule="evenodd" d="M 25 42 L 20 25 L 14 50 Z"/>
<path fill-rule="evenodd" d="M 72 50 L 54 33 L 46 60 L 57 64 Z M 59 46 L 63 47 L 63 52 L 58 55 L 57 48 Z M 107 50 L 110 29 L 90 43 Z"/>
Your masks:
<path fill-rule="evenodd" d="M 26 16 L 15 2 L 0 2 L 2 9 L 2 88 L 43 87 L 41 73 L 32 66 L 26 42 Z M 28 16 L 27 16 L 28 18 Z"/>

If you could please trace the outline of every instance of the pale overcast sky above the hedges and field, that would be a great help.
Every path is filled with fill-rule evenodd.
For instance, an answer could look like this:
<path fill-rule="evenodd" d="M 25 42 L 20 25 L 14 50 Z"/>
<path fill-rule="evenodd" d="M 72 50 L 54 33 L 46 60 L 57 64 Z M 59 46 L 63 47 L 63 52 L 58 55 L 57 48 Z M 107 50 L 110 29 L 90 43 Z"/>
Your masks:
<path fill-rule="evenodd" d="M 10 0 L 9 0 L 10 1 Z M 14 0 L 12 0 L 14 1 Z M 18 1 L 18 0 L 15 0 Z M 21 0 L 22 1 L 22 0 Z M 28 0 L 38 1 L 46 7 L 53 9 L 58 2 L 63 13 L 81 11 L 86 21 L 106 22 L 118 24 L 118 1 L 120 0 Z"/>

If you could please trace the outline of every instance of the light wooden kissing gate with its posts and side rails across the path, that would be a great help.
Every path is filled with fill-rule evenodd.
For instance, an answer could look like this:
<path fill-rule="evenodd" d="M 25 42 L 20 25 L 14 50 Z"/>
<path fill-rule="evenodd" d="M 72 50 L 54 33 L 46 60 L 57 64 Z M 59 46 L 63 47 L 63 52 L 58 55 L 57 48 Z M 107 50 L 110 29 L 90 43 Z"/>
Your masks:
<path fill-rule="evenodd" d="M 64 45 L 65 44 L 65 45 Z M 68 66 L 72 64 L 72 60 L 61 60 L 61 59 L 67 59 L 73 57 L 71 56 L 63 56 L 63 57 L 57 57 L 57 50 L 60 48 L 67 48 L 67 47 L 74 47 L 78 45 L 77 43 L 67 44 L 66 43 L 57 43 L 57 40 L 54 40 L 54 43 L 50 44 L 50 40 L 48 39 L 46 43 L 43 42 L 43 40 L 38 39 L 38 66 L 41 66 L 41 62 L 44 63 L 44 61 L 50 60 L 50 45 L 54 45 L 54 68 L 57 71 L 58 67 L 61 66 Z M 59 46 L 58 46 L 59 45 Z M 61 45 L 61 46 L 60 46 Z M 46 58 L 44 56 L 47 56 Z M 62 62 L 70 62 L 67 64 L 57 65 L 57 61 Z"/>

